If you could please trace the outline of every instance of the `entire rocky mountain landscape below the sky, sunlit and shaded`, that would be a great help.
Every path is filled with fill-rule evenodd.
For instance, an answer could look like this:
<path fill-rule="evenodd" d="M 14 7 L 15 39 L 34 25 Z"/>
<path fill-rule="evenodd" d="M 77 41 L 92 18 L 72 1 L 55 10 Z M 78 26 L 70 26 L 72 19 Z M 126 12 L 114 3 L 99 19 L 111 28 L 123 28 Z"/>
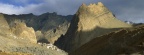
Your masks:
<path fill-rule="evenodd" d="M 143 55 L 144 25 L 118 20 L 101 2 L 76 14 L 0 13 L 0 55 Z"/>

